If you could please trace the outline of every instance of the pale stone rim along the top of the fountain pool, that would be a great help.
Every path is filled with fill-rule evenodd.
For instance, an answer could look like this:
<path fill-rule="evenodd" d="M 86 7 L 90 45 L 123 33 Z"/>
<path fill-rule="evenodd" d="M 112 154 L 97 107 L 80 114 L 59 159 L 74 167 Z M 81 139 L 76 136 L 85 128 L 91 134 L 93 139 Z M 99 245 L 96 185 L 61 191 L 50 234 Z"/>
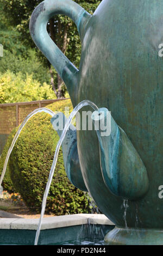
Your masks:
<path fill-rule="evenodd" d="M 0 218 L 0 229 L 36 230 L 38 224 L 39 218 Z M 43 218 L 41 230 L 83 224 L 115 225 L 104 214 L 73 214 Z"/>

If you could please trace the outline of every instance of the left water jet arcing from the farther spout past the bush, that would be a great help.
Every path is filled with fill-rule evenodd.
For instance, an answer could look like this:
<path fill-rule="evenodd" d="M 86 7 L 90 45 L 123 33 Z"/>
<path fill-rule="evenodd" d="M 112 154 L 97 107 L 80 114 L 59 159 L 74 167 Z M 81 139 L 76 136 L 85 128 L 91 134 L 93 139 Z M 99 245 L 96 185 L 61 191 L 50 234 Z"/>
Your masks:
<path fill-rule="evenodd" d="M 6 172 L 6 168 L 7 168 L 7 164 L 8 164 L 8 161 L 9 161 L 9 157 L 11 155 L 11 152 L 12 152 L 12 149 L 14 148 L 14 145 L 18 139 L 18 136 L 20 135 L 24 125 L 27 123 L 27 121 L 33 117 L 33 115 L 37 114 L 37 113 L 40 113 L 40 112 L 45 112 L 45 113 L 48 113 L 50 114 L 52 117 L 53 115 L 55 114 L 51 109 L 48 109 L 46 107 L 42 107 L 42 108 L 37 108 L 35 109 L 33 112 L 31 112 L 29 115 L 27 115 L 27 117 L 24 119 L 23 123 L 20 125 L 20 127 L 18 128 L 17 132 L 16 132 L 16 135 L 14 136 L 14 139 L 12 140 L 12 143 L 11 143 L 11 146 L 8 150 L 8 154 L 5 158 L 5 162 L 4 162 L 4 166 L 3 166 L 3 171 L 2 171 L 2 175 L 1 175 L 1 179 L 0 179 L 0 187 L 1 187 L 1 184 L 2 184 L 2 181 L 3 181 L 3 178 L 4 178 L 4 175 L 5 175 L 5 172 Z"/>

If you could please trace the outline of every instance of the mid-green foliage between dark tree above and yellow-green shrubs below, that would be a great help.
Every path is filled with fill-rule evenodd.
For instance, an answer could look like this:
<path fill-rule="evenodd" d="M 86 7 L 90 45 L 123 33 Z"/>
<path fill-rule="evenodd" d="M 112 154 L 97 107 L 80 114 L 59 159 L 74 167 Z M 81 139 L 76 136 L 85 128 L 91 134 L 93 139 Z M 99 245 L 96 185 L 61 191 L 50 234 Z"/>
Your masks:
<path fill-rule="evenodd" d="M 49 84 L 50 75 L 48 68 L 43 65 L 36 56 L 35 48 L 30 49 L 20 40 L 20 33 L 16 27 L 9 25 L 4 16 L 3 3 L 0 2 L 0 44 L 3 45 L 3 57 L 0 57 L 0 73 L 8 70 L 15 75 L 22 74 L 22 80 L 26 80 L 26 74 L 33 75 L 33 79 Z"/>

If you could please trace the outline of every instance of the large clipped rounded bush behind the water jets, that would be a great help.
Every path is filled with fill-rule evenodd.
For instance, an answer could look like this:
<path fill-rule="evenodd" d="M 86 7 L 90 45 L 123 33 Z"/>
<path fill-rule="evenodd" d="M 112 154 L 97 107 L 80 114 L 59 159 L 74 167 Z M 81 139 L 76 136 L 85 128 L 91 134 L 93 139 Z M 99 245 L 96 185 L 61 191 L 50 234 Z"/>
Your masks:
<path fill-rule="evenodd" d="M 70 100 L 57 101 L 46 107 L 54 112 L 64 112 L 65 106 L 72 111 Z M 35 211 L 41 210 L 43 193 L 59 140 L 50 120 L 51 115 L 47 113 L 34 115 L 24 126 L 9 160 L 10 178 L 16 192 Z M 67 178 L 61 149 L 47 198 L 46 212 L 55 215 L 91 212 L 87 193 L 78 190 Z"/>

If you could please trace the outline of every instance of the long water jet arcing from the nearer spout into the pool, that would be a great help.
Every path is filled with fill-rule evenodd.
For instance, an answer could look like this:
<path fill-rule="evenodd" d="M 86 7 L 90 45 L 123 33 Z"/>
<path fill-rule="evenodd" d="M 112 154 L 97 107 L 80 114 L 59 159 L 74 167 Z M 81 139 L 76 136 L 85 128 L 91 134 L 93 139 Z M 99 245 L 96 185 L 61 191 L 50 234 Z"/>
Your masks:
<path fill-rule="evenodd" d="M 42 208 L 41 208 L 41 215 L 40 215 L 40 220 L 39 220 L 39 225 L 37 227 L 37 231 L 36 231 L 36 237 L 35 237 L 35 243 L 34 245 L 37 245 L 37 242 L 39 240 L 39 235 L 40 235 L 40 229 L 41 229 L 41 223 L 42 223 L 42 218 L 43 215 L 45 213 L 45 208 L 46 208 L 46 200 L 47 200 L 47 196 L 48 196 L 48 192 L 49 192 L 49 188 L 51 186 L 51 182 L 53 179 L 53 174 L 54 174 L 54 170 L 55 170 L 55 166 L 57 164 L 57 159 L 58 159 L 58 154 L 59 154 L 59 149 L 61 147 L 62 142 L 64 141 L 65 135 L 67 130 L 69 129 L 69 126 L 71 124 L 71 121 L 73 119 L 73 117 L 77 114 L 77 112 L 80 110 L 80 108 L 84 107 L 84 106 L 91 106 L 95 111 L 98 111 L 98 107 L 95 105 L 95 103 L 93 103 L 92 101 L 89 100 L 83 100 L 82 102 L 80 102 L 71 112 L 68 120 L 66 121 L 64 130 L 62 131 L 62 135 L 57 143 L 57 147 L 55 149 L 55 155 L 54 155 L 54 159 L 53 159 L 53 163 L 52 163 L 52 167 L 51 167 L 51 171 L 49 173 L 49 178 L 47 181 L 47 185 L 46 185 L 46 189 L 45 189 L 45 193 L 43 195 L 43 200 L 42 200 Z"/>

